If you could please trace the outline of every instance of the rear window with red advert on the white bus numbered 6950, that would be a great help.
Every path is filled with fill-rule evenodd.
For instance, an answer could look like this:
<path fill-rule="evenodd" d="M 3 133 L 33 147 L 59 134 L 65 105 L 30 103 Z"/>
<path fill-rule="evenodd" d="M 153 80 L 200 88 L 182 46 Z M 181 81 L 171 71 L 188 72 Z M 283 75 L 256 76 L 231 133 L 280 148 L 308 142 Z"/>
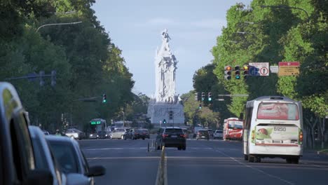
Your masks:
<path fill-rule="evenodd" d="M 261 103 L 257 111 L 258 119 L 299 120 L 299 109 L 296 104 Z"/>

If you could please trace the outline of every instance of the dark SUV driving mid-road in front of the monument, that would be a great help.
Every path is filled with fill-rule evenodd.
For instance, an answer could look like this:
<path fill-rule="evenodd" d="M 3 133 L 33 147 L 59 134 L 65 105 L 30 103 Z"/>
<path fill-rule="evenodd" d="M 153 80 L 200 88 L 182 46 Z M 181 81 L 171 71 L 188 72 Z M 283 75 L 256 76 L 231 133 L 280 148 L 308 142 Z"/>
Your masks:
<path fill-rule="evenodd" d="M 182 128 L 167 127 L 160 128 L 156 136 L 157 149 L 165 147 L 177 147 L 178 150 L 186 150 L 186 135 L 182 131 Z"/>

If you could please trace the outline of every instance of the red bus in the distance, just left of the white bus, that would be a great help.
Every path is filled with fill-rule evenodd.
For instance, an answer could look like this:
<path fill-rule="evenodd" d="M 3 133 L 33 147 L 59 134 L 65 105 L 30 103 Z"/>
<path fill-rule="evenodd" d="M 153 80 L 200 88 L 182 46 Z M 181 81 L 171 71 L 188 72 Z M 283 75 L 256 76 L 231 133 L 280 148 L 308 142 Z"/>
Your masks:
<path fill-rule="evenodd" d="M 242 120 L 239 118 L 227 118 L 224 120 L 223 139 L 242 139 Z"/>

